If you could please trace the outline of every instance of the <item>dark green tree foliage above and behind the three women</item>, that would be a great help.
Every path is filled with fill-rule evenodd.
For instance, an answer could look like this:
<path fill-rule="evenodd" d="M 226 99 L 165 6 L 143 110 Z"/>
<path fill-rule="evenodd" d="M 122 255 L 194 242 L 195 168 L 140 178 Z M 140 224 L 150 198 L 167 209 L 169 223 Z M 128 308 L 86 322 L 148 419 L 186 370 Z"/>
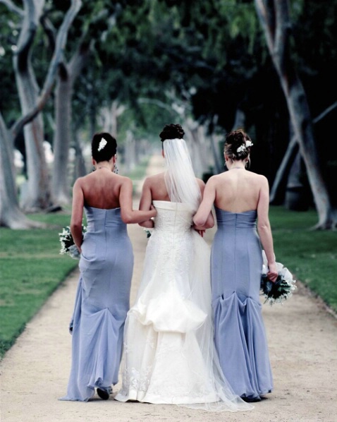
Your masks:
<path fill-rule="evenodd" d="M 55 28 L 68 3 L 46 2 L 45 16 Z M 241 109 L 245 129 L 255 140 L 252 170 L 273 181 L 288 145 L 288 109 L 253 0 L 83 0 L 82 4 L 65 51 L 68 60 L 80 41 L 90 44 L 91 56 L 73 95 L 76 130 L 87 131 L 89 139 L 99 109 L 114 100 L 127 110 L 118 121 L 121 144 L 129 129 L 137 137 L 149 138 L 169 121 L 183 123 L 173 110 L 174 101 L 183 102 L 187 115 L 218 133 L 231 130 Z M 11 83 L 11 47 L 18 23 L 14 13 L 0 7 L 0 45 L 6 52 L 1 55 L 0 47 L 0 77 L 8 81 L 3 84 L 0 108 L 9 123 L 20 113 Z M 337 0 L 324 5 L 316 0 L 290 1 L 293 59 L 312 117 L 336 101 L 336 7 Z M 39 28 L 32 57 L 38 82 L 51 52 L 52 44 Z M 140 102 L 144 99 L 147 102 Z M 45 111 L 51 116 L 52 110 L 49 102 Z M 336 202 L 330 183 L 336 176 L 336 160 L 326 155 L 335 120 L 336 109 L 317 123 L 315 135 L 324 178 Z M 51 140 L 52 123 L 46 128 Z"/>

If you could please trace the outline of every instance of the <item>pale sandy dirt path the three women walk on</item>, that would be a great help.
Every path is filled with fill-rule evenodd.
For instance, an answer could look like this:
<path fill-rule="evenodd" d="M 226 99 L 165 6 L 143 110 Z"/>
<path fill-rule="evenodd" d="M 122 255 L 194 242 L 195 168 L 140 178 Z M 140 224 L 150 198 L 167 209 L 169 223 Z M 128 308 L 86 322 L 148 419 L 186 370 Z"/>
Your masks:
<path fill-rule="evenodd" d="M 161 169 L 161 159 L 153 159 L 149 171 Z M 136 224 L 128 231 L 135 253 L 133 303 L 147 239 Z M 209 243 L 213 235 L 207 233 Z M 300 285 L 283 306 L 264 305 L 274 392 L 250 412 L 210 414 L 174 405 L 121 403 L 112 397 L 104 402 L 97 396 L 88 403 L 59 402 L 71 365 L 68 321 L 77 281 L 76 271 L 1 361 L 1 422 L 337 421 L 337 319 Z"/>

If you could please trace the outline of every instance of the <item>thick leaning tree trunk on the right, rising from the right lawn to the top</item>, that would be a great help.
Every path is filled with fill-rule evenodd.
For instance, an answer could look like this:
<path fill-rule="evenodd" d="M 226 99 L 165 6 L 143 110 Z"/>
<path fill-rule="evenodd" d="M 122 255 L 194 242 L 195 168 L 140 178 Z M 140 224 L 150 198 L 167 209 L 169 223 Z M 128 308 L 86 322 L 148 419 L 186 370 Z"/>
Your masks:
<path fill-rule="evenodd" d="M 290 58 L 288 1 L 255 0 L 255 5 L 264 28 L 271 58 L 286 97 L 290 121 L 295 138 L 300 146 L 300 154 L 307 169 L 310 188 L 319 217 L 319 222 L 315 228 L 331 229 L 336 227 L 336 210 L 333 210 L 329 193 L 321 175 L 305 90 Z"/>

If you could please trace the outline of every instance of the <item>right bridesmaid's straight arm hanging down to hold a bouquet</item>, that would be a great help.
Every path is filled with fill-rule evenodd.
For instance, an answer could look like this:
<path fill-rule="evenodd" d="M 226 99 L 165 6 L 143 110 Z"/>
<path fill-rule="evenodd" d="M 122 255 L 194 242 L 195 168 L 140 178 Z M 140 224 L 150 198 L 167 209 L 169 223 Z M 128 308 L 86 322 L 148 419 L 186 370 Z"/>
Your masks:
<path fill-rule="evenodd" d="M 259 191 L 259 202 L 257 203 L 257 231 L 268 260 L 269 272 L 267 276 L 274 282 L 278 277 L 278 272 L 276 271 L 273 236 L 269 223 L 269 184 L 264 176 L 261 177 L 262 186 Z"/>

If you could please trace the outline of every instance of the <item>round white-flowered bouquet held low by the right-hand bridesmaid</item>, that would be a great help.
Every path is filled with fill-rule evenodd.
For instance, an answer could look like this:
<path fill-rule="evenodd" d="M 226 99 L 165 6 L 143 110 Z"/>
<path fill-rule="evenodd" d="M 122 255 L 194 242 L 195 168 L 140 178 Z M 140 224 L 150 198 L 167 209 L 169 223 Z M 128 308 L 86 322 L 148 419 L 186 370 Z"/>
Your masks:
<path fill-rule="evenodd" d="M 276 282 L 271 282 L 266 273 L 268 272 L 266 254 L 262 251 L 263 265 L 262 265 L 262 279 L 261 279 L 261 290 L 262 294 L 266 298 L 264 303 L 269 302 L 269 305 L 274 303 L 283 303 L 286 299 L 293 295 L 293 291 L 297 289 L 295 286 L 296 280 L 293 279 L 293 275 L 284 267 L 281 263 L 276 263 L 276 269 L 278 271 L 278 277 Z"/>

